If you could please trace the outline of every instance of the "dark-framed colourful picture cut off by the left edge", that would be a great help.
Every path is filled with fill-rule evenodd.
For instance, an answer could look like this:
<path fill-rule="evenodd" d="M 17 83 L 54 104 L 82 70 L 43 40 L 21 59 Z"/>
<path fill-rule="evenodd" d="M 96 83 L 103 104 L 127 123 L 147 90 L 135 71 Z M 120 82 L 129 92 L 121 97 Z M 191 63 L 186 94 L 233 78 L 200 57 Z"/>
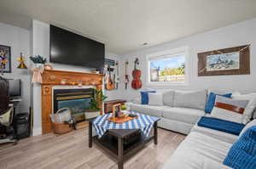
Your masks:
<path fill-rule="evenodd" d="M 11 73 L 11 48 L 0 45 L 0 73 Z"/>

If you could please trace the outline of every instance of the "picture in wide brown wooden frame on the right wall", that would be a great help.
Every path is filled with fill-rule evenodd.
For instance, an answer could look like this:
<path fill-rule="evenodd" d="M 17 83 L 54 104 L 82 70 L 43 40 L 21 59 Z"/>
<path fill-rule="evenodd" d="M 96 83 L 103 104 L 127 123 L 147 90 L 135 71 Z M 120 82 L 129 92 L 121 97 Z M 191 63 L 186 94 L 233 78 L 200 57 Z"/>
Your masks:
<path fill-rule="evenodd" d="M 198 76 L 250 74 L 250 45 L 198 54 Z"/>

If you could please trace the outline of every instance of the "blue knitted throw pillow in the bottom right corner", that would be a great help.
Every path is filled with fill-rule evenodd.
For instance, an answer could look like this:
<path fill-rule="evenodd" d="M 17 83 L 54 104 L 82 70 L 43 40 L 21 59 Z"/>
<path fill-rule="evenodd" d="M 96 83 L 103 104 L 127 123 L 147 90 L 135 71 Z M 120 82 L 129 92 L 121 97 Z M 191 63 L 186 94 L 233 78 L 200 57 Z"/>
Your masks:
<path fill-rule="evenodd" d="M 248 128 L 231 146 L 223 164 L 235 169 L 256 168 L 256 126 Z"/>

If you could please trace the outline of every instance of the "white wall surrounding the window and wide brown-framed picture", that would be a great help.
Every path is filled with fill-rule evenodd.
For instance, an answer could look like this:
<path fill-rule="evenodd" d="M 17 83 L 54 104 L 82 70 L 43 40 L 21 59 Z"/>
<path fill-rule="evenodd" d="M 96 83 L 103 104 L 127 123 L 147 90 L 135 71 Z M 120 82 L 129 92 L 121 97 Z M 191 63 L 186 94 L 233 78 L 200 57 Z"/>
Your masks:
<path fill-rule="evenodd" d="M 188 25 L 189 26 L 189 25 Z M 246 20 L 235 25 L 226 26 L 214 31 L 193 35 L 178 39 L 177 41 L 166 42 L 151 48 L 144 48 L 131 54 L 122 55 L 123 61 L 129 60 L 129 72 L 133 69 L 134 59 L 139 58 L 139 68 L 143 71 L 143 88 L 146 86 L 146 55 L 160 51 L 189 47 L 189 85 L 188 86 L 169 86 L 169 87 L 150 87 L 150 88 L 173 88 L 173 89 L 202 89 L 220 88 L 241 90 L 244 92 L 256 91 L 256 19 Z M 170 30 L 172 31 L 172 30 Z M 197 54 L 221 48 L 231 48 L 240 45 L 252 44 L 251 46 L 251 74 L 236 76 L 197 76 Z M 124 65 L 124 63 L 123 63 Z M 123 73 L 124 74 L 124 73 Z M 131 77 L 131 76 L 130 76 Z M 131 84 L 129 85 L 131 86 Z M 124 87 L 123 87 L 124 88 Z M 139 96 L 137 90 L 122 90 L 124 99 L 134 99 Z"/>

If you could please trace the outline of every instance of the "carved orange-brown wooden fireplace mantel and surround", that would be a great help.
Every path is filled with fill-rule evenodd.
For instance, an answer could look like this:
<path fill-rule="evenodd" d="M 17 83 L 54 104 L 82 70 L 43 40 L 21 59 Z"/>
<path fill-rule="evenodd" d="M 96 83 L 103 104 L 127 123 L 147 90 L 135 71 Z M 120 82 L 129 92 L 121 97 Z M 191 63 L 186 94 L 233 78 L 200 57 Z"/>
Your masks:
<path fill-rule="evenodd" d="M 40 108 L 38 107 L 33 108 L 33 110 L 40 111 L 41 113 L 40 119 L 42 119 L 41 127 L 42 127 L 43 134 L 52 131 L 52 125 L 51 125 L 51 120 L 49 118 L 49 115 L 54 112 L 54 109 L 58 109 L 58 108 L 55 108 L 57 104 L 54 106 L 55 90 L 58 90 L 58 89 L 88 90 L 90 87 L 95 87 L 97 90 L 102 90 L 102 78 L 103 78 L 103 75 L 96 74 L 96 73 L 84 73 L 84 72 L 74 72 L 74 71 L 65 71 L 65 70 L 44 70 L 44 74 L 42 76 L 43 82 L 41 83 L 41 111 L 40 111 Z M 88 93 L 86 94 L 84 93 L 82 95 L 87 95 L 87 94 Z M 79 97 L 82 97 L 82 96 L 79 96 Z M 61 99 L 65 100 L 68 98 L 61 98 Z M 73 98 L 69 98 L 69 99 L 73 99 Z M 76 96 L 76 99 L 78 99 L 77 96 Z M 86 99 L 86 97 L 79 98 L 79 99 Z M 62 105 L 61 102 L 60 104 Z M 100 104 L 100 108 L 102 109 L 102 104 Z M 101 111 L 101 114 L 102 114 L 102 111 Z M 38 119 L 39 118 L 38 115 L 40 114 L 34 113 L 34 119 Z"/>

